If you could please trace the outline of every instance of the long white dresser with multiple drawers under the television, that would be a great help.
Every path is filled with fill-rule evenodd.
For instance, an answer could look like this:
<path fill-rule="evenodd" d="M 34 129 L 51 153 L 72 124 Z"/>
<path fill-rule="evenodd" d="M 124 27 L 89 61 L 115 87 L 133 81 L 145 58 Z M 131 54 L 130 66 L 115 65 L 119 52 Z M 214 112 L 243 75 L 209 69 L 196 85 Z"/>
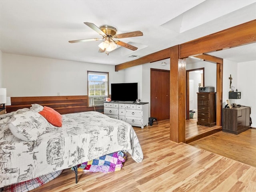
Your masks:
<path fill-rule="evenodd" d="M 104 102 L 104 114 L 142 129 L 148 125 L 148 103 Z"/>

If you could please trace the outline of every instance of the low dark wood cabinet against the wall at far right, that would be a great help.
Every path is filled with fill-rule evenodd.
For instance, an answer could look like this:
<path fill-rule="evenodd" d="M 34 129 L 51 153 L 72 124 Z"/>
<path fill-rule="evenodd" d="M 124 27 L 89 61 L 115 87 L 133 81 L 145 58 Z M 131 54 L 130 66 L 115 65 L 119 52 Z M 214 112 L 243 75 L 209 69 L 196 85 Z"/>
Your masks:
<path fill-rule="evenodd" d="M 246 106 L 224 108 L 222 131 L 239 134 L 250 128 L 251 108 Z"/>

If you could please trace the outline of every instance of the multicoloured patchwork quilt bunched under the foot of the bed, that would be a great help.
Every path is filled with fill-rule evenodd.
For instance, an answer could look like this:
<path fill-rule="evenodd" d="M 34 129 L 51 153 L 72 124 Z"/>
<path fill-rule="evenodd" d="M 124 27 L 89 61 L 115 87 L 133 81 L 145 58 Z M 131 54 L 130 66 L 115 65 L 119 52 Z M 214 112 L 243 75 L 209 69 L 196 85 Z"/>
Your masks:
<path fill-rule="evenodd" d="M 83 172 L 115 172 L 121 170 L 126 154 L 121 151 L 114 152 L 78 165 L 78 171 Z M 74 170 L 73 168 L 71 168 Z"/>

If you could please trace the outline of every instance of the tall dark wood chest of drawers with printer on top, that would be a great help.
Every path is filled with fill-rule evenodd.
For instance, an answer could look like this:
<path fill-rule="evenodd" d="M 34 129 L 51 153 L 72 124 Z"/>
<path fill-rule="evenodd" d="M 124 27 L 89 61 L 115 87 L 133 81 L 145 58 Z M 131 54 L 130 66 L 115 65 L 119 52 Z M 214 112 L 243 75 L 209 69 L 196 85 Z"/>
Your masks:
<path fill-rule="evenodd" d="M 200 92 L 197 93 L 197 124 L 204 126 L 216 125 L 216 93 Z"/>

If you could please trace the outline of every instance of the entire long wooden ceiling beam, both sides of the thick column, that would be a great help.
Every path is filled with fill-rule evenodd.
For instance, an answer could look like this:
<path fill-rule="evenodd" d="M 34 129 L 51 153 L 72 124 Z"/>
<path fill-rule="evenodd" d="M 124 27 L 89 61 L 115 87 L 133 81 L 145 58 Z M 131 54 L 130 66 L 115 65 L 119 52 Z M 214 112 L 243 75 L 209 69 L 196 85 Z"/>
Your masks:
<path fill-rule="evenodd" d="M 180 59 L 189 56 L 223 50 L 256 42 L 256 20 L 180 44 Z M 170 48 L 143 56 L 136 60 L 118 64 L 115 70 L 122 70 L 140 64 L 156 62 L 170 58 Z"/>

